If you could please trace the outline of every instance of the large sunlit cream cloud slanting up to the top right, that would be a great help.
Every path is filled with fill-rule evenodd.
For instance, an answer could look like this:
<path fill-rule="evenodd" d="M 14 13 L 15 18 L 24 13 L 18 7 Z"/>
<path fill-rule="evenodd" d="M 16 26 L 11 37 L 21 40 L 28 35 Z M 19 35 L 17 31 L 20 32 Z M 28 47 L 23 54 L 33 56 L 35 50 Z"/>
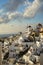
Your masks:
<path fill-rule="evenodd" d="M 43 0 L 34 0 L 33 3 L 31 4 L 31 6 L 28 6 L 25 9 L 23 16 L 26 18 L 34 17 L 37 14 L 42 3 L 43 3 Z"/>

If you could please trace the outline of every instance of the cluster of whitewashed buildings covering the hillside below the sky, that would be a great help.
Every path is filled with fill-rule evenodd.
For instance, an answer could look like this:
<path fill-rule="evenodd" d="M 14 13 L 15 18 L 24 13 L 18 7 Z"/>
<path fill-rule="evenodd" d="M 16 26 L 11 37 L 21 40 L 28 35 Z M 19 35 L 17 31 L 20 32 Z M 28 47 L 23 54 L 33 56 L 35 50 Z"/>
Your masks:
<path fill-rule="evenodd" d="M 43 26 L 41 24 L 35 30 L 27 26 L 26 32 L 16 37 L 10 36 L 2 43 L 2 61 L 6 60 L 9 65 L 37 64 L 40 62 L 41 53 L 43 53 Z"/>

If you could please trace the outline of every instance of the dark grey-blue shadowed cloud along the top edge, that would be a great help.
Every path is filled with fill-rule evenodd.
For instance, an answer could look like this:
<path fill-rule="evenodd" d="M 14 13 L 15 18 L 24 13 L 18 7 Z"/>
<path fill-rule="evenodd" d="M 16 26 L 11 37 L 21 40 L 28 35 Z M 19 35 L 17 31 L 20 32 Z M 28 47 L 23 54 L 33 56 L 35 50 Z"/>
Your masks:
<path fill-rule="evenodd" d="M 7 4 L 4 5 L 7 11 L 14 11 L 20 5 L 24 4 L 26 0 L 9 0 Z"/>

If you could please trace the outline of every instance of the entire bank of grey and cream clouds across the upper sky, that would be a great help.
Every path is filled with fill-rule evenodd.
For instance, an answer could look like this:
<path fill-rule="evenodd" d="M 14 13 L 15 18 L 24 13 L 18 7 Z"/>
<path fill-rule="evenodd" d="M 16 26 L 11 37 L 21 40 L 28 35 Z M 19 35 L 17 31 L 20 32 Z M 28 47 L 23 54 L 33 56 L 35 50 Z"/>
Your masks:
<path fill-rule="evenodd" d="M 23 12 L 17 11 L 19 6 L 26 6 Z M 20 18 L 33 18 L 40 11 L 43 11 L 43 0 L 34 0 L 29 2 L 28 0 L 9 0 L 7 4 L 4 5 L 6 13 L 0 16 L 0 23 L 8 23 L 12 19 Z M 2 13 L 3 10 L 0 10 Z"/>

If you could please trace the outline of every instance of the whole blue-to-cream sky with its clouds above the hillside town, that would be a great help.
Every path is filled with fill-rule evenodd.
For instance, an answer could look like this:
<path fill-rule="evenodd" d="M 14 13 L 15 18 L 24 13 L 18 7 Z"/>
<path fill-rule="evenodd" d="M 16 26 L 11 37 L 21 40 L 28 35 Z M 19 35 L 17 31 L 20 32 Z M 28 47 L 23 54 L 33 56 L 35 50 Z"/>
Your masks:
<path fill-rule="evenodd" d="M 0 34 L 25 31 L 43 24 L 43 0 L 0 0 Z"/>

